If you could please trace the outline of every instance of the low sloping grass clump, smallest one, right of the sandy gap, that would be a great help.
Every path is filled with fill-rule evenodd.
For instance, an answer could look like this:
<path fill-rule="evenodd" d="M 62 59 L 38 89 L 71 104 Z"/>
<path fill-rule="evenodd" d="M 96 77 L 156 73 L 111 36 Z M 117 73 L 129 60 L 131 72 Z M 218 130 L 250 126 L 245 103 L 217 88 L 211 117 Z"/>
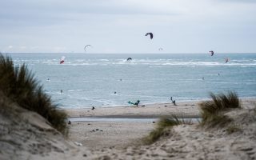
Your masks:
<path fill-rule="evenodd" d="M 159 122 L 157 123 L 156 129 L 152 130 L 149 135 L 145 138 L 142 138 L 142 142 L 146 145 L 150 145 L 156 142 L 159 138 L 164 135 L 168 135 L 168 128 L 172 126 L 178 126 L 181 124 L 190 124 L 191 122 L 187 122 L 184 118 L 178 118 L 176 115 L 170 116 L 170 118 L 160 118 Z"/>

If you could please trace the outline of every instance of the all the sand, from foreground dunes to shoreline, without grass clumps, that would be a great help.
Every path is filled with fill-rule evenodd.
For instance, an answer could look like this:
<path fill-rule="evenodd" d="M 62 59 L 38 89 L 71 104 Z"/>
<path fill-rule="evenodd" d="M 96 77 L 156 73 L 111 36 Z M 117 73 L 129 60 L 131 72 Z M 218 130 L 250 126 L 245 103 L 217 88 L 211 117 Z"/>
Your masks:
<path fill-rule="evenodd" d="M 0 158 L 255 159 L 255 104 L 256 98 L 244 98 L 242 110 L 227 113 L 240 128 L 234 134 L 228 134 L 228 128 L 206 130 L 195 122 L 169 128 L 151 145 L 142 144 L 142 138 L 154 130 L 158 118 L 168 114 L 198 118 L 198 102 L 66 110 L 70 119 L 87 118 L 72 121 L 67 138 L 40 115 L 13 106 L 17 118 L 0 114 Z"/>

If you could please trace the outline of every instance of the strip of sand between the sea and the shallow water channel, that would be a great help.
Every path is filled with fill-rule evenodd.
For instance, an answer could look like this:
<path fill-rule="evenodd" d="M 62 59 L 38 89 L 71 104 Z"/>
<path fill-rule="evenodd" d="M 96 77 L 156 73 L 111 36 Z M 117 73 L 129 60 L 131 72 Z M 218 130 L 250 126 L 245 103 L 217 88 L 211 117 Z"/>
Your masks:
<path fill-rule="evenodd" d="M 65 110 L 70 118 L 160 118 L 175 114 L 186 118 L 198 118 L 198 102 L 181 102 L 177 106 L 172 103 L 156 103 L 150 105 L 94 107 L 91 109 Z"/>

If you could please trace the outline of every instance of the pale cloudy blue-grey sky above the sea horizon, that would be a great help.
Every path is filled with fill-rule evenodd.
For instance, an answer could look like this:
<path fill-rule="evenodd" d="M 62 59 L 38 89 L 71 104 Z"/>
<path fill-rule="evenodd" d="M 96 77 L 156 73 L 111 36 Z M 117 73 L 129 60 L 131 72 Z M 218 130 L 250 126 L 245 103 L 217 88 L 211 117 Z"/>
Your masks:
<path fill-rule="evenodd" d="M 0 36 L 2 53 L 256 53 L 256 0 L 1 0 Z"/>

